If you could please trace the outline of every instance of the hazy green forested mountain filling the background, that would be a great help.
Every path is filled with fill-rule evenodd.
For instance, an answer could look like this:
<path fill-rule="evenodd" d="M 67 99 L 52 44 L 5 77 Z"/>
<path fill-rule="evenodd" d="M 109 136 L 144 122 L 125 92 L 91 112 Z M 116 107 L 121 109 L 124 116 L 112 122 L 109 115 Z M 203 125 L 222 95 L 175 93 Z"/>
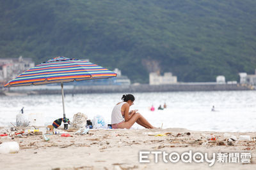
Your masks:
<path fill-rule="evenodd" d="M 55 56 L 178 81 L 237 80 L 256 68 L 254 0 L 0 1 L 0 57 Z"/>

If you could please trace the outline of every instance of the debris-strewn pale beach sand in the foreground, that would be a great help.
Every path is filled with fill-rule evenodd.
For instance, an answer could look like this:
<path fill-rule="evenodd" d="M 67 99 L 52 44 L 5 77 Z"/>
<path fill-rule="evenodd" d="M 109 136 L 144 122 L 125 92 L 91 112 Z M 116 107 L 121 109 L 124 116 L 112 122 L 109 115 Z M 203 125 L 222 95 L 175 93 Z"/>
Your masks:
<path fill-rule="evenodd" d="M 190 134 L 189 134 L 189 133 Z M 166 136 L 154 136 L 164 134 Z M 0 154 L 0 169 L 256 169 L 256 141 L 234 141 L 227 145 L 224 132 L 200 132 L 188 129 L 91 129 L 89 134 L 77 135 L 68 132 L 71 137 L 61 134 L 22 136 L 14 139 L 0 137 L 4 141 L 17 141 L 18 153 Z M 214 134 L 216 141 L 207 141 Z M 228 133 L 239 138 L 249 135 L 256 138 L 256 132 Z M 150 154 L 150 163 L 139 162 L 140 151 L 216 153 L 212 167 L 209 163 L 184 163 L 181 160 L 172 163 L 154 162 Z M 217 153 L 244 153 L 252 155 L 251 163 L 220 163 Z"/>

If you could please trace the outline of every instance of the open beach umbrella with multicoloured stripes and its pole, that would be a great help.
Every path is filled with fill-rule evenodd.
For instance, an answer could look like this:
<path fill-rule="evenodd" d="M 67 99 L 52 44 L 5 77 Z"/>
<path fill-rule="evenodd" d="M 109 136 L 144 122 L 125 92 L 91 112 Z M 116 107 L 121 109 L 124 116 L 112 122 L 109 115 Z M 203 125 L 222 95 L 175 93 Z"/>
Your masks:
<path fill-rule="evenodd" d="M 4 87 L 19 87 L 27 85 L 45 85 L 61 83 L 63 117 L 65 116 L 63 83 L 100 78 L 113 78 L 116 73 L 92 62 L 56 57 L 36 65 L 9 81 Z"/>

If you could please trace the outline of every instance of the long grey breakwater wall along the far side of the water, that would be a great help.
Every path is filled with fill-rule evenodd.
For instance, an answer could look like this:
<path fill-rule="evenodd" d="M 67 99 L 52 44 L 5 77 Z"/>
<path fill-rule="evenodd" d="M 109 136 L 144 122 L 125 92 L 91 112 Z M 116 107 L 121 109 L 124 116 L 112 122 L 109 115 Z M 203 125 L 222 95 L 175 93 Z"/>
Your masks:
<path fill-rule="evenodd" d="M 13 96 L 15 94 L 61 94 L 58 85 L 29 86 L 6 89 L 8 91 L 0 95 Z M 95 94 L 95 93 L 118 93 L 118 92 L 201 92 L 201 91 L 230 91 L 230 90 L 255 90 L 254 87 L 244 84 L 220 84 L 220 83 L 176 83 L 172 85 L 88 85 L 76 86 L 64 85 L 65 94 Z"/>

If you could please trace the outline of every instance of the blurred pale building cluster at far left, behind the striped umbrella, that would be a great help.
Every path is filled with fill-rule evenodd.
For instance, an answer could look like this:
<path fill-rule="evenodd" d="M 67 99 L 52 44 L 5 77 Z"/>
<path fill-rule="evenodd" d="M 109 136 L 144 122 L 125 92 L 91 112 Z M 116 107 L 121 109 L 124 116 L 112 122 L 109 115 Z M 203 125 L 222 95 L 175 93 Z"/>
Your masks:
<path fill-rule="evenodd" d="M 3 85 L 34 66 L 35 62 L 31 58 L 23 58 L 22 56 L 19 58 L 0 59 L 0 83 Z"/>

